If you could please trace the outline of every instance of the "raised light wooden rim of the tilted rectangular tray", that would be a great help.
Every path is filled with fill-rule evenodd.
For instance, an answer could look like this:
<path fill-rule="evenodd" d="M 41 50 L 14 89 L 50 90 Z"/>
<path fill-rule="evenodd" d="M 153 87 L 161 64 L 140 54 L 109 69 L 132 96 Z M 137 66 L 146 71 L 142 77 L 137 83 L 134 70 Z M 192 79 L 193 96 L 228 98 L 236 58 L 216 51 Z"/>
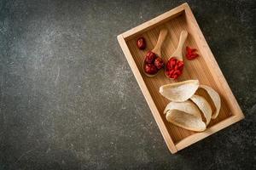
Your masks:
<path fill-rule="evenodd" d="M 211 65 L 212 67 L 216 68 L 215 69 L 215 74 L 218 75 L 218 79 L 214 78 L 214 81 L 217 81 L 219 83 L 224 84 L 224 89 L 227 91 L 227 94 L 231 97 L 230 100 L 232 101 L 233 105 L 236 107 L 236 112 L 233 113 L 233 116 L 230 116 L 226 119 L 224 119 L 221 122 L 216 123 L 212 127 L 207 128 L 206 131 L 202 133 L 195 133 L 192 134 L 181 141 L 177 142 L 176 144 L 173 143 L 171 135 L 168 133 L 166 129 L 166 125 L 162 121 L 160 117 L 160 112 L 158 111 L 156 105 L 154 104 L 154 100 L 152 99 L 152 96 L 150 95 L 146 83 L 143 81 L 143 77 L 140 73 L 140 71 L 137 68 L 137 64 L 135 60 L 133 59 L 130 49 L 128 48 L 125 40 L 128 40 L 130 37 L 134 36 L 134 34 L 138 34 L 143 31 L 147 31 L 148 29 L 152 28 L 155 25 L 160 24 L 161 22 L 165 22 L 165 20 L 170 20 L 170 17 L 176 16 L 177 14 L 180 14 L 182 12 L 185 12 L 186 15 L 189 16 L 189 20 L 192 22 L 195 31 L 197 31 L 197 34 L 199 34 L 200 39 L 196 39 L 195 41 L 200 41 L 201 45 L 203 46 L 204 50 L 207 50 L 207 61 L 209 62 L 208 64 Z M 133 72 L 134 76 L 136 77 L 136 80 L 139 84 L 139 87 L 141 88 L 143 95 L 145 99 L 147 100 L 148 106 L 154 116 L 154 120 L 157 123 L 158 127 L 160 128 L 160 132 L 162 133 L 166 145 L 168 149 L 173 153 L 176 153 L 177 150 L 182 150 L 183 148 L 189 146 L 190 144 L 195 144 L 196 142 L 200 141 L 201 139 L 207 138 L 207 136 L 211 135 L 212 133 L 216 133 L 219 130 L 223 129 L 224 127 L 228 127 L 231 124 L 240 121 L 241 119 L 244 118 L 244 115 L 241 111 L 240 106 L 238 105 L 236 98 L 234 94 L 232 93 L 228 83 L 226 82 L 224 75 L 222 71 L 220 70 L 218 63 L 216 59 L 214 58 L 211 49 L 209 48 L 205 37 L 203 36 L 200 27 L 198 26 L 195 16 L 192 13 L 191 9 L 189 8 L 188 3 L 183 3 L 177 8 L 173 8 L 170 11 L 167 11 L 164 14 L 160 14 L 159 16 L 155 17 L 152 20 L 148 20 L 147 22 L 144 22 L 142 25 L 137 26 L 132 28 L 129 31 L 125 31 L 124 33 L 120 34 L 118 37 L 119 45 L 122 48 L 125 57 L 131 67 L 131 71 Z"/>

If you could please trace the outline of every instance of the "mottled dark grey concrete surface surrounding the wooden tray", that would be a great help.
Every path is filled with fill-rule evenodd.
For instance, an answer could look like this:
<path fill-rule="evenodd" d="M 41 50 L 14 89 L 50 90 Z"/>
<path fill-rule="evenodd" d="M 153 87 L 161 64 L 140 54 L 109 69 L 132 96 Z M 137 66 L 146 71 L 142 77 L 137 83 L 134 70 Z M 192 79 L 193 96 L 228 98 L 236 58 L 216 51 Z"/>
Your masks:
<path fill-rule="evenodd" d="M 116 36 L 183 1 L 1 0 L 0 169 L 255 169 L 254 2 L 188 2 L 246 119 L 172 155 Z"/>

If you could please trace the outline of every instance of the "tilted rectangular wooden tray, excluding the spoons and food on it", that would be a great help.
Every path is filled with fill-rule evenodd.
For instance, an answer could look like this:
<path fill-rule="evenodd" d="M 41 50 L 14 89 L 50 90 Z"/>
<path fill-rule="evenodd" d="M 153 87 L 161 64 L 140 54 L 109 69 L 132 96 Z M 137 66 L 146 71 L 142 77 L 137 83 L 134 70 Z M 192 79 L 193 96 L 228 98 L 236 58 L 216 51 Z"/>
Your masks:
<path fill-rule="evenodd" d="M 177 48 L 178 38 L 182 30 L 189 32 L 185 46 L 197 48 L 198 54 L 200 54 L 200 57 L 194 60 L 187 60 L 183 57 L 185 67 L 183 75 L 177 81 L 198 79 L 201 84 L 215 89 L 221 97 L 222 105 L 218 118 L 212 120 L 207 130 L 202 133 L 195 133 L 166 122 L 163 111 L 170 101 L 160 95 L 159 88 L 161 85 L 172 83 L 172 81 L 165 77 L 164 71 L 160 72 L 156 77 L 146 77 L 143 74 L 141 65 L 145 54 L 148 50 L 154 48 L 160 29 L 163 27 L 166 27 L 169 31 L 162 48 L 162 58 L 165 61 Z M 136 41 L 138 37 L 145 37 L 147 42 L 145 50 L 137 48 Z M 148 22 L 129 31 L 125 31 L 125 33 L 118 36 L 118 41 L 143 91 L 143 95 L 160 128 L 160 132 L 172 153 L 182 150 L 190 144 L 194 144 L 244 118 L 188 3 L 183 3 L 165 14 L 148 20 Z M 207 95 L 204 97 L 207 98 Z"/>

